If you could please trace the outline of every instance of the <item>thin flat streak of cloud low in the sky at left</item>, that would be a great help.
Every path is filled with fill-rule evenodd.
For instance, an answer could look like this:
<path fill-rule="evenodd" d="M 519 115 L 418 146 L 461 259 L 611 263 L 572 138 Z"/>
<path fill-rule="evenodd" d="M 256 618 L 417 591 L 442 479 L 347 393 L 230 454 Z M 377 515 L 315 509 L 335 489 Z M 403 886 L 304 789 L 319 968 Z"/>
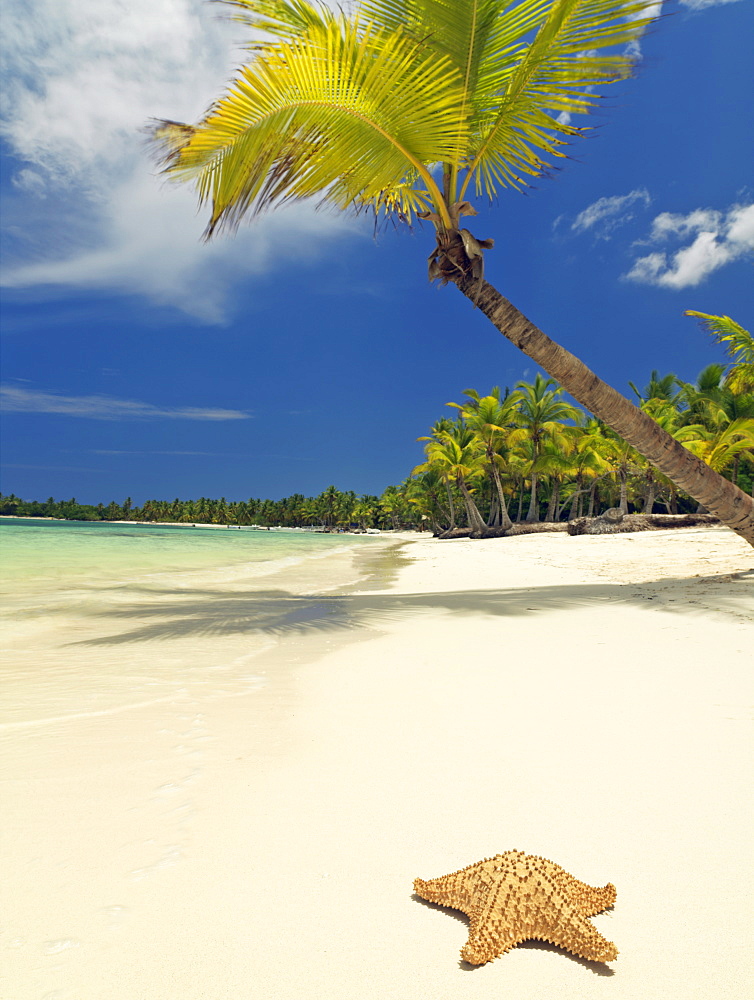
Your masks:
<path fill-rule="evenodd" d="M 0 405 L 6 412 L 57 413 L 90 420 L 248 420 L 251 417 L 243 410 L 154 406 L 113 396 L 60 396 L 15 385 L 0 387 Z"/>

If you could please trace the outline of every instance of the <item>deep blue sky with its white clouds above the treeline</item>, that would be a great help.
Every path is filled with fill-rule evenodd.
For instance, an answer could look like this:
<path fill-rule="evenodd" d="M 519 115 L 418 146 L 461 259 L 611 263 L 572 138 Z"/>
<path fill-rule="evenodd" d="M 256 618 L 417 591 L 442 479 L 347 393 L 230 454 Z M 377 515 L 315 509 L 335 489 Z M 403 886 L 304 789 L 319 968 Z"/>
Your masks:
<path fill-rule="evenodd" d="M 379 493 L 463 390 L 535 367 L 454 288 L 430 229 L 298 205 L 200 240 L 140 128 L 192 121 L 241 59 L 200 0 L 7 0 L 2 490 L 81 502 Z M 626 393 L 754 328 L 751 0 L 665 3 L 551 179 L 478 204 L 486 277 Z M 582 124 L 582 122 L 579 122 Z M 450 412 L 450 411 L 445 411 Z"/>

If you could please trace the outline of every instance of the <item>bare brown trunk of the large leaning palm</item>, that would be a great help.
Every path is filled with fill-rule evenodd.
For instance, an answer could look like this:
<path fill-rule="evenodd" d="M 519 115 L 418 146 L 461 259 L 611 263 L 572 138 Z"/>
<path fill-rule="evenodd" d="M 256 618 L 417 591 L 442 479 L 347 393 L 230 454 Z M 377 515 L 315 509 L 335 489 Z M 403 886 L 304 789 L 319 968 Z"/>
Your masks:
<path fill-rule="evenodd" d="M 754 546 L 754 499 L 714 472 L 642 413 L 625 396 L 597 378 L 565 348 L 542 333 L 487 281 L 471 273 L 451 278 L 503 336 L 515 344 L 577 402 L 619 434 L 668 479 Z"/>

